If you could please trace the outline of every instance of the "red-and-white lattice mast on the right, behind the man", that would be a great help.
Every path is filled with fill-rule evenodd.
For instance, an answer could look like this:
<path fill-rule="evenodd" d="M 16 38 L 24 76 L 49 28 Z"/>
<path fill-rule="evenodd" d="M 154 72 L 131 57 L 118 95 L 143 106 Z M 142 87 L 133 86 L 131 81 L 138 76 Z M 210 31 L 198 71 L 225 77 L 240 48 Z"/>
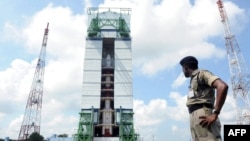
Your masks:
<path fill-rule="evenodd" d="M 229 20 L 222 0 L 217 1 L 224 27 L 233 96 L 237 104 L 237 124 L 250 124 L 250 73 L 235 36 L 231 33 Z"/>

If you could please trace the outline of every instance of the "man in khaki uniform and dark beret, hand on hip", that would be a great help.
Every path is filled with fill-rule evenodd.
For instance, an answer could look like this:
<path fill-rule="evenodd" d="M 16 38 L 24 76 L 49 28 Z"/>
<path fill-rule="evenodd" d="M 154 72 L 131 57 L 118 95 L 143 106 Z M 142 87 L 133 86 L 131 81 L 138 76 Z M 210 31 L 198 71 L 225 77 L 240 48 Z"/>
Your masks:
<path fill-rule="evenodd" d="M 190 77 L 187 107 L 193 141 L 221 141 L 218 116 L 228 85 L 210 71 L 198 69 L 198 60 L 193 56 L 184 57 L 180 65 L 185 77 Z"/>

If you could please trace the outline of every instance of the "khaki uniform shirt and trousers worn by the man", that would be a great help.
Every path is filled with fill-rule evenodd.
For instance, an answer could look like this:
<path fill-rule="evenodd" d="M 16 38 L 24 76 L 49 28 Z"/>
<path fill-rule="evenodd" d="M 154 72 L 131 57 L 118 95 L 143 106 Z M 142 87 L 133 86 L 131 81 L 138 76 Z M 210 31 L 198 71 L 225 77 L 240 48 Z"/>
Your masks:
<path fill-rule="evenodd" d="M 190 113 L 190 130 L 193 141 L 221 141 L 219 118 L 209 127 L 202 127 L 200 116 L 212 114 L 215 91 L 212 83 L 219 77 L 207 70 L 195 70 L 192 73 L 187 107 Z"/>

